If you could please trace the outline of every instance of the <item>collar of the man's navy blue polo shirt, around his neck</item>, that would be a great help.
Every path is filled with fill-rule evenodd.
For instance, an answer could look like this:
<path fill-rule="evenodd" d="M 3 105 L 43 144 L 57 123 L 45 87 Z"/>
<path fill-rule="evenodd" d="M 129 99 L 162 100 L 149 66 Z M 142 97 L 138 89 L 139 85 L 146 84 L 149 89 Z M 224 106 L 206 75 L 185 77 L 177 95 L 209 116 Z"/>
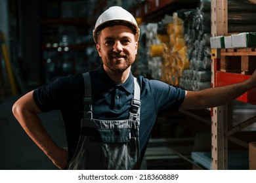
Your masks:
<path fill-rule="evenodd" d="M 100 85 L 102 85 L 104 88 L 108 88 L 108 87 L 112 87 L 112 86 L 121 86 L 122 88 L 124 88 L 127 92 L 129 93 L 133 93 L 133 75 L 130 72 L 129 77 L 127 78 L 127 80 L 123 83 L 123 84 L 119 84 L 114 82 L 114 80 L 112 80 L 110 78 L 110 76 L 107 75 L 106 71 L 103 68 L 103 64 L 100 65 L 100 67 L 98 67 L 98 81 L 100 82 Z"/>

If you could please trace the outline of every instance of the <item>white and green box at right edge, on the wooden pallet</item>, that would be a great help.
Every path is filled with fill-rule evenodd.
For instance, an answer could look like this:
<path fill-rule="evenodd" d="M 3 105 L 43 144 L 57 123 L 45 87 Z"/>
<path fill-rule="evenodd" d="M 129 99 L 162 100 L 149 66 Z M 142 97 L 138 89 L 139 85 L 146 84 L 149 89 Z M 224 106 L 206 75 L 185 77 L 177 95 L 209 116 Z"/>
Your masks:
<path fill-rule="evenodd" d="M 239 33 L 231 35 L 233 48 L 256 47 L 256 33 Z"/>

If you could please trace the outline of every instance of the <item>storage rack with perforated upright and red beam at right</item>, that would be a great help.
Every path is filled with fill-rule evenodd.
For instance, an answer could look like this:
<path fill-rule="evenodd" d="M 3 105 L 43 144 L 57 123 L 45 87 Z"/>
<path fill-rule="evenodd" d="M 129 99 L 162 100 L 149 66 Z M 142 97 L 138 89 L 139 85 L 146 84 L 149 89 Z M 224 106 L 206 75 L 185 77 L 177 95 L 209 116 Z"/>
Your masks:
<path fill-rule="evenodd" d="M 228 35 L 228 1 L 211 0 L 211 37 Z M 213 87 L 226 86 L 243 82 L 251 77 L 255 69 L 255 48 L 231 48 L 212 50 L 212 78 Z M 237 101 L 256 105 L 256 88 L 245 92 Z M 249 142 L 241 137 L 235 137 L 242 129 L 255 122 L 255 116 L 240 122 L 237 126 L 228 129 L 232 122 L 232 106 L 225 104 L 212 109 L 211 116 L 211 166 L 213 169 L 229 169 L 230 157 L 229 142 L 240 147 L 248 148 Z M 231 109 L 231 110 L 229 110 Z M 248 131 L 246 131 L 248 132 Z M 245 137 L 247 135 L 243 135 Z M 248 151 L 248 150 L 247 150 Z M 249 160 L 249 158 L 247 158 Z M 231 160 L 232 161 L 232 160 Z M 249 167 L 250 169 L 250 167 Z"/>

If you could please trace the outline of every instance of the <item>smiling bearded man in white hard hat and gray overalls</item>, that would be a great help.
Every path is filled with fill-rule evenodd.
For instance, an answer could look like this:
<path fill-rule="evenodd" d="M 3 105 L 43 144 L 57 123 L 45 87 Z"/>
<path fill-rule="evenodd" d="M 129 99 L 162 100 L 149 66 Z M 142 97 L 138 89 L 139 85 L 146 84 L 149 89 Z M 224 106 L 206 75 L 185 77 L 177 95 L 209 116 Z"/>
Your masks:
<path fill-rule="evenodd" d="M 256 72 L 238 84 L 191 92 L 143 76 L 134 78 L 139 27 L 121 7 L 110 7 L 93 38 L 102 65 L 27 93 L 12 107 L 26 133 L 59 169 L 139 169 L 154 122 L 165 109 L 223 105 L 256 87 Z M 139 92 L 138 92 L 139 91 Z M 56 144 L 37 114 L 60 110 L 68 151 Z"/>

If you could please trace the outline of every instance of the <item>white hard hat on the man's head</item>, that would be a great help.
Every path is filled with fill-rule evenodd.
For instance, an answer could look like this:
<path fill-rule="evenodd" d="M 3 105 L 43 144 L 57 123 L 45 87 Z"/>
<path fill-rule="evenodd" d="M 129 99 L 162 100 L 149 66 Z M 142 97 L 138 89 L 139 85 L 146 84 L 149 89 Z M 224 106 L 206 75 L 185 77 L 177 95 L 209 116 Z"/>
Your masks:
<path fill-rule="evenodd" d="M 102 29 L 112 25 L 125 25 L 135 34 L 135 40 L 139 41 L 140 29 L 133 15 L 122 7 L 110 7 L 98 17 L 95 29 L 93 29 L 93 39 L 97 43 L 98 34 Z"/>

